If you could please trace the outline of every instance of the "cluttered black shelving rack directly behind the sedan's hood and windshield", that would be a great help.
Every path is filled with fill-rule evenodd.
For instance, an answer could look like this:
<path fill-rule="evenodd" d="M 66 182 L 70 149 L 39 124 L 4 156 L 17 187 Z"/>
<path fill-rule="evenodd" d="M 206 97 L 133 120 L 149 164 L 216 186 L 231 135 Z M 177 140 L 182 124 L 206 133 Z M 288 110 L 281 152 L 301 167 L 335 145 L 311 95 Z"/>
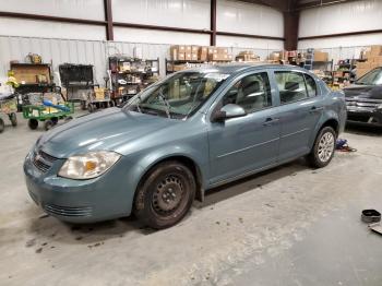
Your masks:
<path fill-rule="evenodd" d="M 153 83 L 153 75 L 159 75 L 159 58 L 143 60 L 127 56 L 109 57 L 111 95 L 121 104 Z"/>

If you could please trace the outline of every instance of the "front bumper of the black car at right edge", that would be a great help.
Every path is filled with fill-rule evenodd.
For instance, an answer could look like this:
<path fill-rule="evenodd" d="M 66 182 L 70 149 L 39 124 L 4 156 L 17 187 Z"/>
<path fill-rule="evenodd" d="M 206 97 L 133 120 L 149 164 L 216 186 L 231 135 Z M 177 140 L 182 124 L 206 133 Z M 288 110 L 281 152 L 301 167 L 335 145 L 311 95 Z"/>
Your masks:
<path fill-rule="evenodd" d="M 347 107 L 347 122 L 382 127 L 382 110 Z"/>

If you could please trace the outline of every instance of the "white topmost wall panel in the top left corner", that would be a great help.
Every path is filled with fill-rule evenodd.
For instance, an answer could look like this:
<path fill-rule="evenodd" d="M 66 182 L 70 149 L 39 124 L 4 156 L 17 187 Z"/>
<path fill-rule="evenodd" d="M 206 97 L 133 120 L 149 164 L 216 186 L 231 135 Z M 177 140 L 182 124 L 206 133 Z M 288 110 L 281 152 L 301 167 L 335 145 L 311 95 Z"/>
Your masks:
<path fill-rule="evenodd" d="M 0 0 L 1 11 L 49 16 L 105 19 L 103 0 Z"/>

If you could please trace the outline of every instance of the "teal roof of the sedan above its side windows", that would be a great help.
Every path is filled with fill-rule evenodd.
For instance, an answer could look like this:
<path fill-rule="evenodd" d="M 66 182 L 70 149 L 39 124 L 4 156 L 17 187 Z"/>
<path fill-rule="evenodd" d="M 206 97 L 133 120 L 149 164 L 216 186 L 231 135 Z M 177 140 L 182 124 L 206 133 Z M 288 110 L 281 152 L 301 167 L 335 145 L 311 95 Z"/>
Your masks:
<path fill-rule="evenodd" d="M 216 71 L 220 73 L 226 74 L 237 74 L 244 70 L 251 70 L 251 69 L 285 69 L 285 70 L 299 70 L 302 72 L 308 72 L 306 69 L 301 69 L 300 67 L 290 65 L 290 64 L 274 64 L 274 63 L 225 63 L 225 64 L 206 64 L 199 68 L 192 68 L 184 71 L 195 71 L 195 72 L 208 72 L 208 71 Z"/>

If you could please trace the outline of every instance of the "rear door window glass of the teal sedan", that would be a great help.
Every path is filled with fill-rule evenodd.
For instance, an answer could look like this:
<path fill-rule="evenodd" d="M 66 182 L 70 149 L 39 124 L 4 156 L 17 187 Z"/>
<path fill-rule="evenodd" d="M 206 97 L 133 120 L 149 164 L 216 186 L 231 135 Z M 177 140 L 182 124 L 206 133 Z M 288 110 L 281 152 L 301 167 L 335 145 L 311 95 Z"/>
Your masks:
<path fill-rule="evenodd" d="M 275 72 L 282 104 L 295 103 L 308 98 L 303 74 L 290 71 Z"/>

